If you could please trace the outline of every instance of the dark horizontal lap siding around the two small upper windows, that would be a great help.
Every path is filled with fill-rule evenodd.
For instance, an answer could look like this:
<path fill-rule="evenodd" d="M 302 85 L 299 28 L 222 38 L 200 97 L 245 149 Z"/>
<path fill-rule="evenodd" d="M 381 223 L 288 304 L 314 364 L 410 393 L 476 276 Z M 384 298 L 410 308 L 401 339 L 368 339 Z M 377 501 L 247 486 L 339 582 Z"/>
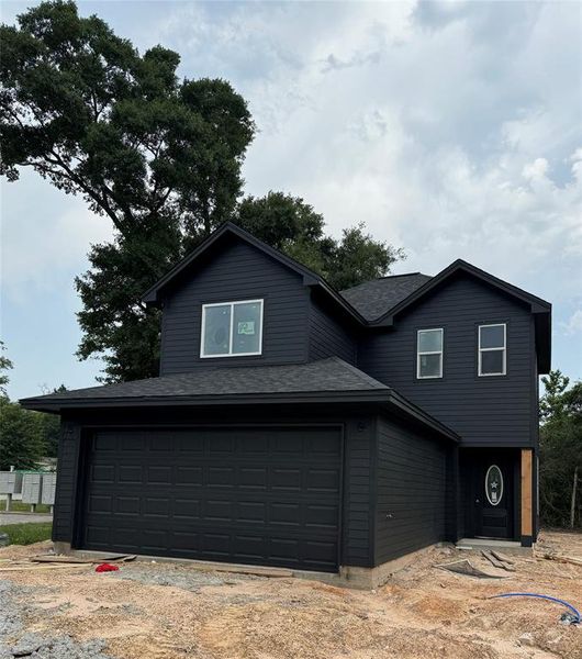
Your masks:
<path fill-rule="evenodd" d="M 477 376 L 478 325 L 507 324 L 507 375 Z M 416 379 L 416 332 L 444 328 L 444 377 Z M 461 435 L 463 444 L 529 445 L 535 351 L 530 313 L 470 276 L 445 284 L 396 317 L 392 331 L 362 339 L 359 368 L 394 387 Z"/>

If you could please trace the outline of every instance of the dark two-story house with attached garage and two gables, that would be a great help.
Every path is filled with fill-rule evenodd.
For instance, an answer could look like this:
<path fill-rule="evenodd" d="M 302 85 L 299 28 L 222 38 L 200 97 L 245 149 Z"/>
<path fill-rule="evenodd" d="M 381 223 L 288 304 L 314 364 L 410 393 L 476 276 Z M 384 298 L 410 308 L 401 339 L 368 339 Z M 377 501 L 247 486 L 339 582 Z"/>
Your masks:
<path fill-rule="evenodd" d="M 60 550 L 373 585 L 443 540 L 535 541 L 548 302 L 462 260 L 338 292 L 230 223 L 144 301 L 158 378 L 22 401 L 63 418 Z"/>

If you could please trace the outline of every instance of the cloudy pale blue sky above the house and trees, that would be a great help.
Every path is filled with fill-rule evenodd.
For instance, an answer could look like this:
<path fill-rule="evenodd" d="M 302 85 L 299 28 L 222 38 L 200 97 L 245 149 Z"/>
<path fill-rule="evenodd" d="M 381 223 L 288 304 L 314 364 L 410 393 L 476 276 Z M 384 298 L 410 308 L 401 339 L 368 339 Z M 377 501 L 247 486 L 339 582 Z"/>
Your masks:
<path fill-rule="evenodd" d="M 405 249 L 394 272 L 460 257 L 549 300 L 553 367 L 582 378 L 582 3 L 79 5 L 247 99 L 246 192 L 303 197 L 334 235 L 363 221 Z M 91 386 L 74 277 L 110 223 L 34 172 L 1 192 L 9 393 Z"/>

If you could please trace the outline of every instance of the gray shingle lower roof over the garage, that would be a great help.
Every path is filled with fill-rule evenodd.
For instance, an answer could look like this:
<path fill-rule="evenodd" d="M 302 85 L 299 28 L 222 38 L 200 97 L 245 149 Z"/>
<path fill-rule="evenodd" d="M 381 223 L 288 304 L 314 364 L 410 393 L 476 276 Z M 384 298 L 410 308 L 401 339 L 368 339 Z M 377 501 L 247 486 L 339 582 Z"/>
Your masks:
<path fill-rule="evenodd" d="M 410 403 L 391 387 L 328 357 L 283 366 L 209 367 L 197 372 L 89 387 L 20 401 L 29 410 L 59 413 L 66 409 L 209 405 L 244 403 L 358 403 L 392 406 L 399 414 L 457 442 L 458 435 Z"/>

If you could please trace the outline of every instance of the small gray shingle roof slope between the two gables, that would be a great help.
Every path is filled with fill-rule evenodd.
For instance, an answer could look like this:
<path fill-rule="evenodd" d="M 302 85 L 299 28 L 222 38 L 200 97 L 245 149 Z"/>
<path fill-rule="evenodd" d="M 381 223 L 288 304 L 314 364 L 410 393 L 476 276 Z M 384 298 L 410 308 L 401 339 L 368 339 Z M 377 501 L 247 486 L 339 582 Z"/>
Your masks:
<path fill-rule="evenodd" d="M 365 281 L 342 291 L 340 294 L 367 321 L 376 321 L 430 279 L 432 277 L 421 272 L 393 275 Z"/>

